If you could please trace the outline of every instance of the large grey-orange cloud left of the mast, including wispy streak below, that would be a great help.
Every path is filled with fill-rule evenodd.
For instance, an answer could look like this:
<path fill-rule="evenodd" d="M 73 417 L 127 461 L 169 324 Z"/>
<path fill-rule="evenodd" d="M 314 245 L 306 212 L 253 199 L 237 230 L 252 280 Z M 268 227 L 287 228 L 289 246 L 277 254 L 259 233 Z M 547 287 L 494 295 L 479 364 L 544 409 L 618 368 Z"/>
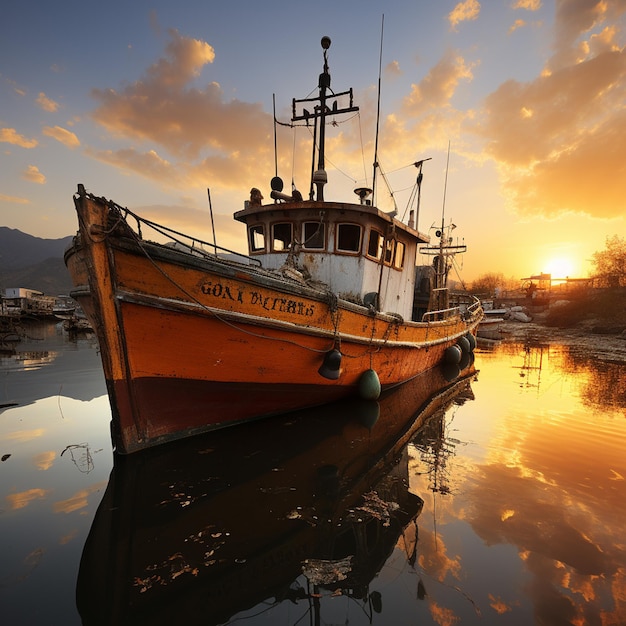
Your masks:
<path fill-rule="evenodd" d="M 89 154 L 171 187 L 238 183 L 271 164 L 271 115 L 261 104 L 226 101 L 221 87 L 197 87 L 215 52 L 206 42 L 169 31 L 165 57 L 121 90 L 94 89 L 93 119 L 115 137 L 139 145 Z M 145 145 L 142 149 L 141 144 Z M 242 168 L 237 171 L 237 168 Z"/>

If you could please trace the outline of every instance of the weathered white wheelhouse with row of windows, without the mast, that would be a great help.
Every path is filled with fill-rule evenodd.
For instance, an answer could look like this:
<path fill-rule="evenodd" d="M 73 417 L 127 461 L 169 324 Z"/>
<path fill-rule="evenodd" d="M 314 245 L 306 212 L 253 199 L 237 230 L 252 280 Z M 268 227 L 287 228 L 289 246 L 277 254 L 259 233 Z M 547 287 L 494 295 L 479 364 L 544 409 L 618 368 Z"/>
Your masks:
<path fill-rule="evenodd" d="M 248 252 L 263 267 L 303 270 L 344 300 L 411 319 L 418 245 L 429 240 L 411 220 L 403 224 L 365 198 L 262 205 L 255 197 L 253 190 L 234 217 L 246 224 Z"/>

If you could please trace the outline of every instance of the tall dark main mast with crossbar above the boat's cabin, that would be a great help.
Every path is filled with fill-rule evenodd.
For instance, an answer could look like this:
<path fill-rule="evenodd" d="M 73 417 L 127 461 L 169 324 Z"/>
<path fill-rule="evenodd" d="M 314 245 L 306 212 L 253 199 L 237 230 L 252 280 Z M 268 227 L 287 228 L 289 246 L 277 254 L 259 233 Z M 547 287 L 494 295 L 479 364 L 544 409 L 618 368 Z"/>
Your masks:
<path fill-rule="evenodd" d="M 326 143 L 326 116 L 338 115 L 341 113 L 352 113 L 358 111 L 359 107 L 354 106 L 352 89 L 348 91 L 342 91 L 340 93 L 333 93 L 330 88 L 330 72 L 328 71 L 328 57 L 327 51 L 330 48 L 330 37 L 322 37 L 322 49 L 324 50 L 324 67 L 322 73 L 319 75 L 318 89 L 319 95 L 317 98 L 305 98 L 302 100 L 293 99 L 292 102 L 292 122 L 304 120 L 307 125 L 309 121 L 313 119 L 315 127 L 313 132 L 313 163 L 315 163 L 315 150 L 317 147 L 317 170 L 312 173 L 311 176 L 311 200 L 313 199 L 313 185 L 317 188 L 317 201 L 324 202 L 324 185 L 327 181 L 326 176 L 326 163 L 325 163 L 325 143 Z M 330 95 L 328 92 L 330 91 Z M 339 108 L 338 98 L 340 96 L 350 96 L 350 104 L 347 107 Z M 328 104 L 332 101 L 332 108 Z M 316 103 L 313 111 L 309 111 L 302 107 L 301 113 L 296 114 L 296 105 L 303 104 L 305 102 Z M 318 121 L 319 120 L 319 121 Z M 317 132 L 316 132 L 317 131 Z M 319 133 L 319 135 L 318 135 Z M 317 146 L 316 146 L 317 144 Z"/>

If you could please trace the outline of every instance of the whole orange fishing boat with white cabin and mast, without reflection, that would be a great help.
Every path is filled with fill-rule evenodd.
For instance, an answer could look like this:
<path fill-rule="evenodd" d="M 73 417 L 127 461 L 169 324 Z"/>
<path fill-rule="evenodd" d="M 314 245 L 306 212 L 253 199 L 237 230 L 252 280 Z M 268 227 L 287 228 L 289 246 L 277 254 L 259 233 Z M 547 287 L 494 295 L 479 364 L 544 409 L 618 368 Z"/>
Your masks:
<path fill-rule="evenodd" d="M 284 192 L 278 175 L 270 202 L 253 187 L 234 214 L 247 255 L 78 185 L 79 230 L 65 262 L 99 340 L 119 452 L 349 395 L 375 398 L 472 356 L 482 309 L 450 302 L 456 250 L 443 217 L 435 244 L 411 214 L 404 223 L 374 206 L 372 189 L 356 189 L 354 203 L 325 199 L 325 127 L 358 110 L 352 90 L 330 90 L 329 46 L 324 37 L 318 96 L 293 100 L 291 123 L 314 127 L 309 196 Z M 438 249 L 426 269 L 416 268 L 420 246 Z"/>

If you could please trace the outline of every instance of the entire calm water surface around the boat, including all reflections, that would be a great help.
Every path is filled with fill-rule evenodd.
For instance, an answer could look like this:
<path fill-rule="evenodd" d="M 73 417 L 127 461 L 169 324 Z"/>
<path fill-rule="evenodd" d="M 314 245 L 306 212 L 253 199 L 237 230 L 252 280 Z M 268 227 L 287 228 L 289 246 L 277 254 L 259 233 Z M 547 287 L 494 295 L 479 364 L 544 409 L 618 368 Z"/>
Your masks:
<path fill-rule="evenodd" d="M 479 348 L 434 396 L 114 464 L 95 342 L 30 332 L 0 355 L 2 623 L 626 624 L 624 364 Z"/>

